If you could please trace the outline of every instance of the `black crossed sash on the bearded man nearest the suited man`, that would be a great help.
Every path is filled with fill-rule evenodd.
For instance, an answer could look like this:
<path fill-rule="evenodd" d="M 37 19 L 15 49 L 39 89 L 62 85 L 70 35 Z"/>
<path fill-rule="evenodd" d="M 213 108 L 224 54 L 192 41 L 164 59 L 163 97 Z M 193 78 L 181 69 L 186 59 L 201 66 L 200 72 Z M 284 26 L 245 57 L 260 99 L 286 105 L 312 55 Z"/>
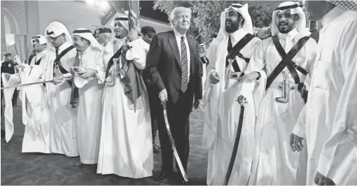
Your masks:
<path fill-rule="evenodd" d="M 237 60 L 235 59 L 235 57 L 238 56 L 239 58 L 244 59 L 244 61 L 246 61 L 247 63 L 249 62 L 250 59 L 243 57 L 243 55 L 241 55 L 240 51 L 253 38 L 254 38 L 254 36 L 252 34 L 246 34 L 243 38 L 241 38 L 241 40 L 238 41 L 238 43 L 233 48 L 232 48 L 232 41 L 230 41 L 230 38 L 228 39 L 228 46 L 227 46 L 228 55 L 227 55 L 227 57 L 225 57 L 225 67 L 227 67 L 230 64 L 228 62 L 228 59 L 232 59 L 232 60 L 234 60 L 234 62 L 232 62 L 232 66 L 233 66 L 233 69 L 235 70 L 235 72 L 241 71 L 241 69 L 239 69 L 239 66 L 238 66 L 238 63 L 237 63 Z"/>

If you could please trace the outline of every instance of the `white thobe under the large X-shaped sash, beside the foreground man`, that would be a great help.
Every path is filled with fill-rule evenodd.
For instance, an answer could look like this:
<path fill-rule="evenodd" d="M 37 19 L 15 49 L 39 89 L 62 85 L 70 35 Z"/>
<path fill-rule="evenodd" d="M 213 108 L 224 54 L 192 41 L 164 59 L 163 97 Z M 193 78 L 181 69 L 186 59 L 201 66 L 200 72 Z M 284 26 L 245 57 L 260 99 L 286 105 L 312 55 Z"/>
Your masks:
<path fill-rule="evenodd" d="M 296 29 L 293 29 L 288 34 L 279 33 L 278 37 L 285 52 L 288 53 L 300 38 L 309 35 L 310 32 L 307 30 L 298 33 Z M 312 73 L 316 45 L 316 41 L 309 38 L 292 60 L 309 73 Z M 267 76 L 280 62 L 281 56 L 276 50 L 272 38 L 267 38 L 258 45 L 245 73 L 259 71 L 262 75 L 259 82 L 265 89 Z M 294 79 L 287 67 L 283 71 L 288 74 L 287 80 L 290 85 L 294 85 Z M 305 76 L 300 71 L 297 71 L 297 73 L 300 82 L 304 82 Z M 283 82 L 283 76 L 280 73 L 274 83 L 281 82 Z M 244 91 L 248 90 L 244 89 Z M 297 181 L 297 177 L 301 174 L 304 175 L 304 169 L 300 168 L 304 164 L 303 159 L 300 160 L 300 153 L 293 152 L 289 145 L 290 133 L 293 131 L 300 110 L 304 106 L 304 100 L 297 88 L 290 90 L 287 94 L 289 97 L 287 103 L 276 102 L 275 98 L 282 96 L 283 92 L 269 87 L 262 94 L 262 99 L 258 103 L 255 152 L 249 185 L 295 185 L 300 183 Z"/>

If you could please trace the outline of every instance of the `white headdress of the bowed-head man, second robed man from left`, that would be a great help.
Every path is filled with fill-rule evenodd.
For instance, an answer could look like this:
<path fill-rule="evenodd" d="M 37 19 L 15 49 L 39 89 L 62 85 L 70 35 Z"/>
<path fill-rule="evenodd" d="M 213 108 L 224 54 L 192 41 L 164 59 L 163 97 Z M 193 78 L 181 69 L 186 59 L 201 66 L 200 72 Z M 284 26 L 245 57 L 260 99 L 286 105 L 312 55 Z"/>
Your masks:
<path fill-rule="evenodd" d="M 64 27 L 64 25 L 60 22 L 51 22 L 50 25 L 45 29 L 45 38 L 48 43 L 48 48 L 52 48 L 55 50 L 55 46 L 52 44 L 50 41 L 49 37 L 57 37 L 61 34 L 64 34 L 66 36 L 66 43 L 72 44 L 72 38 L 71 34 L 69 34 L 69 31 Z"/>

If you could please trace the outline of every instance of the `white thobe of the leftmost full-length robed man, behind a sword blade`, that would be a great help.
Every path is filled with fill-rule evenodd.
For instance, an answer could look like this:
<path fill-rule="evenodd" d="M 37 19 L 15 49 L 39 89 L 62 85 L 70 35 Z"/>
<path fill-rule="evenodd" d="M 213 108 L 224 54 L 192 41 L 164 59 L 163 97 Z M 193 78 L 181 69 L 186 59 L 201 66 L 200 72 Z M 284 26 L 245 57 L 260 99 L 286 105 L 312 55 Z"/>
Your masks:
<path fill-rule="evenodd" d="M 46 60 L 46 50 L 36 54 L 30 62 L 25 64 L 21 72 L 22 84 L 43 81 Z M 34 65 L 41 59 L 39 65 Z M 43 84 L 21 88 L 22 122 L 25 124 L 25 134 L 22 141 L 22 152 L 50 153 L 50 120 L 49 105 Z"/>

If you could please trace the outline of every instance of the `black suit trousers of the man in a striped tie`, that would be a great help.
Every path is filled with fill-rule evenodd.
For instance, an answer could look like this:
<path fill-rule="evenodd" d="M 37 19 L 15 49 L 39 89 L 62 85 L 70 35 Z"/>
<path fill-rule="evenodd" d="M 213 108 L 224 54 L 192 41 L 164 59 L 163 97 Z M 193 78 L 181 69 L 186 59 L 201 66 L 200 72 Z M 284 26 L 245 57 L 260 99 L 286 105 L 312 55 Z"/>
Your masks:
<path fill-rule="evenodd" d="M 188 155 L 190 152 L 189 134 L 190 134 L 190 113 L 192 110 L 193 94 L 181 93 L 176 104 L 172 105 L 167 102 L 167 119 L 169 127 L 174 138 L 176 150 L 179 154 L 183 169 L 187 171 Z M 158 112 L 158 131 L 160 136 L 161 154 L 162 154 L 162 171 L 171 173 L 173 171 L 174 154 L 172 145 L 169 141 L 167 129 L 165 125 L 162 106 Z M 176 169 L 179 171 L 179 166 L 176 162 Z"/>

